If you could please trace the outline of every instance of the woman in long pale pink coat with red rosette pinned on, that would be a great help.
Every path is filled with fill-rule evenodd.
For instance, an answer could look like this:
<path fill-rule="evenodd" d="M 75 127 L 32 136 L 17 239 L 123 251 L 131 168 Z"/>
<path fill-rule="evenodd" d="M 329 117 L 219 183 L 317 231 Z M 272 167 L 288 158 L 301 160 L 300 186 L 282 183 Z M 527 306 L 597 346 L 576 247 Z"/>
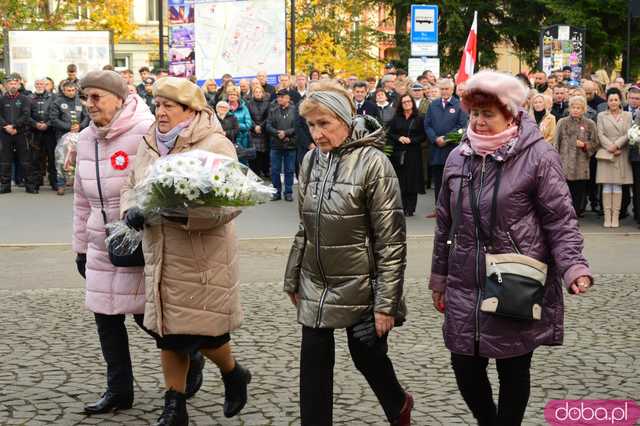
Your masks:
<path fill-rule="evenodd" d="M 94 313 L 107 364 L 107 391 L 84 407 L 86 414 L 98 414 L 128 409 L 133 404 L 133 372 L 124 319 L 126 314 L 133 314 L 142 327 L 143 268 L 113 266 L 105 245 L 105 221 L 120 219 L 120 190 L 154 117 L 139 96 L 129 94 L 126 82 L 113 71 L 89 72 L 80 83 L 87 96 L 91 125 L 80 133 L 77 146 L 73 250 L 78 272 L 86 280 L 86 306 Z M 102 216 L 103 205 L 106 219 Z M 188 377 L 192 394 L 202 383 L 204 359 L 198 355 Z"/>

